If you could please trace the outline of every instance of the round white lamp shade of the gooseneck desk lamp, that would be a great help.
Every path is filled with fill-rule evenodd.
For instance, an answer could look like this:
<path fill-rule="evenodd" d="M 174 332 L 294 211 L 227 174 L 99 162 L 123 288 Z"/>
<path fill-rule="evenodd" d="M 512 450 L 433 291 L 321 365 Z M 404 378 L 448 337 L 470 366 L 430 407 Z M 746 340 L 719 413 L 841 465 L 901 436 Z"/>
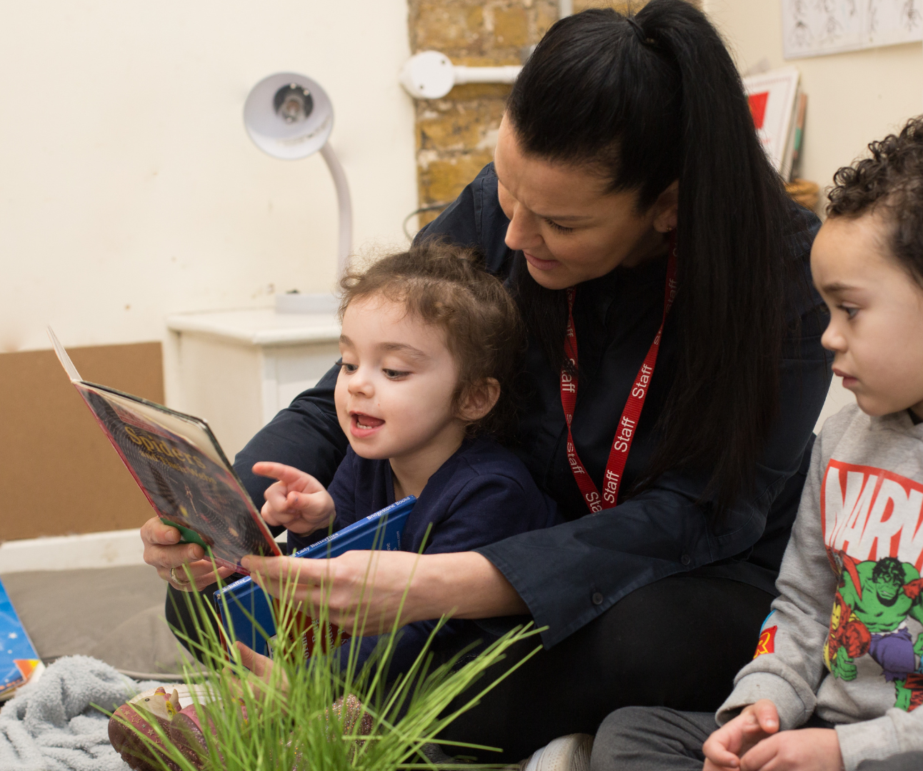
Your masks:
<path fill-rule="evenodd" d="M 287 121 L 278 109 L 277 95 L 289 87 L 305 96 L 306 110 Z M 264 77 L 250 90 L 244 103 L 244 125 L 257 147 L 273 158 L 305 158 L 327 142 L 333 129 L 333 105 L 327 92 L 310 77 L 280 72 Z"/>

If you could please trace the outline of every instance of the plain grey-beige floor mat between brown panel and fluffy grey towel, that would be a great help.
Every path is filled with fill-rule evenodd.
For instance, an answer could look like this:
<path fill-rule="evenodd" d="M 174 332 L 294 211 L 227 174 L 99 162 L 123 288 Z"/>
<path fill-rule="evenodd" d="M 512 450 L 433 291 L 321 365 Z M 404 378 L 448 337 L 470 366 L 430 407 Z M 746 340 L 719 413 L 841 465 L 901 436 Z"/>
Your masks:
<path fill-rule="evenodd" d="M 188 659 L 163 620 L 166 585 L 147 565 L 0 575 L 46 661 L 83 654 L 136 676 L 177 674 Z"/>

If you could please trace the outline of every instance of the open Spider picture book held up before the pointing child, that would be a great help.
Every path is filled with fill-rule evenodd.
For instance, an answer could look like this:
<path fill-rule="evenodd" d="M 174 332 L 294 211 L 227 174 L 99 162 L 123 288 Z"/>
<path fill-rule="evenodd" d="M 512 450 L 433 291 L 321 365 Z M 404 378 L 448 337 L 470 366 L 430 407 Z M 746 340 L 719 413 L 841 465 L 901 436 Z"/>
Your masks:
<path fill-rule="evenodd" d="M 70 382 L 163 523 L 225 567 L 247 554 L 281 555 L 206 421 L 83 380 L 48 328 Z"/>

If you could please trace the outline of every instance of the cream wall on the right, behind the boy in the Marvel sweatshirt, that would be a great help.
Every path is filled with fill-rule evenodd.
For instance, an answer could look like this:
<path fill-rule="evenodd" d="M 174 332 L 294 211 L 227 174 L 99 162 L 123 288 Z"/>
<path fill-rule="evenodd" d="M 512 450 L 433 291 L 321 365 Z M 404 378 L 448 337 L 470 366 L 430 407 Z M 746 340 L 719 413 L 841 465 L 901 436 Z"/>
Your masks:
<path fill-rule="evenodd" d="M 705 0 L 746 72 L 765 58 L 774 67 L 796 65 L 808 94 L 802 176 L 825 188 L 833 172 L 862 155 L 873 139 L 923 113 L 920 43 L 786 61 L 782 55 L 781 0 Z M 821 208 L 822 208 L 821 202 Z M 833 378 L 822 422 L 853 400 Z"/>

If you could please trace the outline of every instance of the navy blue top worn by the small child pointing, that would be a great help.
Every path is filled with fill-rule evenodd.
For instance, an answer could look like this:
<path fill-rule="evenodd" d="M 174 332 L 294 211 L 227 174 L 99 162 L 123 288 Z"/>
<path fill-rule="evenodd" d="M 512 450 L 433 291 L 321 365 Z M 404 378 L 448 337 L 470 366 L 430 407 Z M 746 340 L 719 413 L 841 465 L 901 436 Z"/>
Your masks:
<path fill-rule="evenodd" d="M 328 492 L 337 509 L 333 530 L 352 525 L 394 503 L 390 462 L 359 457 L 349 447 Z M 401 549 L 429 554 L 470 552 L 561 521 L 554 501 L 539 491 L 518 457 L 492 439 L 467 439 L 426 482 L 407 517 Z M 309 546 L 327 532 L 327 528 L 306 536 L 289 532 L 290 552 Z M 435 625 L 435 620 L 425 621 L 402 629 L 390 662 L 392 670 L 409 668 Z M 449 635 L 483 636 L 476 629 L 472 622 L 450 621 L 437 636 L 439 640 Z M 368 658 L 376 643 L 375 637 L 363 642 L 360 661 Z"/>

